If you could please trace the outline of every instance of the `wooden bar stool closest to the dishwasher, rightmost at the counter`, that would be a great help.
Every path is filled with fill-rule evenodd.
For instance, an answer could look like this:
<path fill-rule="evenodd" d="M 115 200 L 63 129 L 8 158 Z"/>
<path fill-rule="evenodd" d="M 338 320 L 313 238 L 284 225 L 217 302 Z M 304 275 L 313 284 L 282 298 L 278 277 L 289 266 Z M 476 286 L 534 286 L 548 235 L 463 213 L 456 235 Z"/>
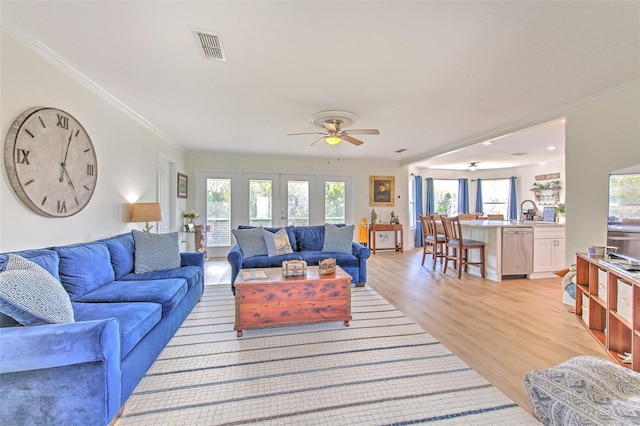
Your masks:
<path fill-rule="evenodd" d="M 443 217 L 444 235 L 446 238 L 444 270 L 447 273 L 447 265 L 453 261 L 453 267 L 458 268 L 458 278 L 462 277 L 462 267 L 467 272 L 469 265 L 480 266 L 480 275 L 484 278 L 484 242 L 462 238 L 462 226 L 458 217 Z M 480 250 L 480 260 L 471 262 L 469 250 Z"/>

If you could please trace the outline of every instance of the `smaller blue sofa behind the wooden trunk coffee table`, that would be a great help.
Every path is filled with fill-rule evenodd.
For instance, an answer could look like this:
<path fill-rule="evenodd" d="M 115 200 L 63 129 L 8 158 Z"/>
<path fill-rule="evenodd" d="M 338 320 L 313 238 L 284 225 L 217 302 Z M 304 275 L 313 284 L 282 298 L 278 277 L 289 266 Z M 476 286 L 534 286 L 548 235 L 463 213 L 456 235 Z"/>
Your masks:
<path fill-rule="evenodd" d="M 339 225 L 338 225 L 339 226 Z M 238 229 L 252 229 L 251 226 L 239 226 Z M 268 232 L 277 232 L 281 228 L 264 228 Z M 285 226 L 293 253 L 276 256 L 244 256 L 240 245 L 235 244 L 227 254 L 231 265 L 231 290 L 235 293 L 233 283 L 240 269 L 274 268 L 282 266 L 283 260 L 305 260 L 307 265 L 317 265 L 321 260 L 335 258 L 336 264 L 353 278 L 356 286 L 364 286 L 367 282 L 367 259 L 370 250 L 362 244 L 351 242 L 351 253 L 323 251 L 325 225 Z"/>

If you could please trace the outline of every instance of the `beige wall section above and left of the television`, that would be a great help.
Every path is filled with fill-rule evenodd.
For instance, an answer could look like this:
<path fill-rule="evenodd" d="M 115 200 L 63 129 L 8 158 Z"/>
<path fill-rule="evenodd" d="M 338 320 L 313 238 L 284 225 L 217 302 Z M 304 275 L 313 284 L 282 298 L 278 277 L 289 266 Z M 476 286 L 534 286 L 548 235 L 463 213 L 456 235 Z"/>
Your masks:
<path fill-rule="evenodd" d="M 606 243 L 609 173 L 640 164 L 640 84 L 569 111 L 565 152 L 569 265 Z"/>

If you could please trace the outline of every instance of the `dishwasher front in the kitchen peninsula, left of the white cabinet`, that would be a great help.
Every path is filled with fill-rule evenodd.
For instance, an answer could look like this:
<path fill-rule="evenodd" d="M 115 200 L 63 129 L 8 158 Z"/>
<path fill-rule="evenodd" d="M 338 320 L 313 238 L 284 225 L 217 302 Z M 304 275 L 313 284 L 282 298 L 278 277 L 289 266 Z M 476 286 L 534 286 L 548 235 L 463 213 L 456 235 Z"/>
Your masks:
<path fill-rule="evenodd" d="M 502 275 L 533 272 L 533 228 L 502 228 Z"/>

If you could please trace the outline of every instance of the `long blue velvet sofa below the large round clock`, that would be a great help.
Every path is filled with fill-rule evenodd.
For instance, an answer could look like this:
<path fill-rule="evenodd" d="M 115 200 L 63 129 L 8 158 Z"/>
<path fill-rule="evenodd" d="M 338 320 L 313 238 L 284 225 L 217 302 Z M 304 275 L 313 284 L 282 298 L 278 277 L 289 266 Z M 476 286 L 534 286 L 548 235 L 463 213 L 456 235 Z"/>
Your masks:
<path fill-rule="evenodd" d="M 2 315 L 0 424 L 109 424 L 200 300 L 203 254 L 176 252 L 180 267 L 136 274 L 131 233 L 14 254 L 62 283 L 75 322 Z"/>

